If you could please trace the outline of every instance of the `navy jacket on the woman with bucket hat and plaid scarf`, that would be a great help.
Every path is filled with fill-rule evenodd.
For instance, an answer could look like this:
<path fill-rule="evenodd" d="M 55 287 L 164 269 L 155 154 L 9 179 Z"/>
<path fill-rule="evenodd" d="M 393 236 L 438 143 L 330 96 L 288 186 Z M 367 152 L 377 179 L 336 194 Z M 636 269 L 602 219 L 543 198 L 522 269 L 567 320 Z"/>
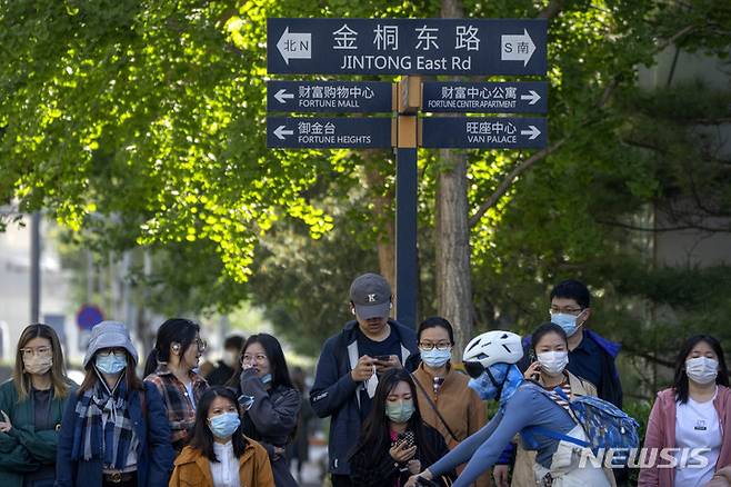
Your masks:
<path fill-rule="evenodd" d="M 152 384 L 144 382 L 144 405 L 140 404 L 140 394 L 130 394 L 128 407 L 134 434 L 139 439 L 137 453 L 137 475 L 139 487 L 167 486 L 172 474 L 174 450 L 170 444 L 170 423 L 166 415 L 160 392 Z M 72 460 L 73 431 L 80 428 L 81 419 L 76 409 L 78 394 L 72 394 L 63 413 L 59 446 L 56 461 L 54 487 L 100 486 L 102 485 L 102 465 L 100 458 Z M 144 409 L 144 411 L 142 410 Z"/>

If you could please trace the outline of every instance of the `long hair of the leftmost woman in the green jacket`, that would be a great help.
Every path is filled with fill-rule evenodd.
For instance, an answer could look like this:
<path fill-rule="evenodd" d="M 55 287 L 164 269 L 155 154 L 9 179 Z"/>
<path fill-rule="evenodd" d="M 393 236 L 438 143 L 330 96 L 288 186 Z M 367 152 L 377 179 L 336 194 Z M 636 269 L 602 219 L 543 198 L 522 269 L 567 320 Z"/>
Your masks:
<path fill-rule="evenodd" d="M 53 365 L 49 372 L 51 374 L 51 386 L 53 387 L 53 397 L 64 398 L 69 395 L 69 379 L 66 376 L 66 362 L 63 361 L 63 351 L 61 350 L 61 342 L 53 328 L 48 325 L 36 324 L 26 327 L 20 338 L 18 339 L 18 348 L 16 349 L 16 367 L 12 371 L 12 381 L 18 392 L 18 401 L 28 398 L 31 390 L 30 374 L 27 374 L 23 356 L 20 351 L 26 348 L 26 345 L 33 338 L 46 338 L 51 342 L 51 359 Z"/>

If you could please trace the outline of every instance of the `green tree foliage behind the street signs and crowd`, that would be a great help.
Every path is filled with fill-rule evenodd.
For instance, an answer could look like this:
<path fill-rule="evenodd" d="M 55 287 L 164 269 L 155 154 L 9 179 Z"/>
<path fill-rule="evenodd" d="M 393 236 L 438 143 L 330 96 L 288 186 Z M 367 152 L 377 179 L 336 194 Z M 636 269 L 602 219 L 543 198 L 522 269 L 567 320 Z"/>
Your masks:
<path fill-rule="evenodd" d="M 698 89 L 695 97 L 643 93 L 637 71 L 673 43 L 728 53 L 728 6 L 463 3 L 467 17 L 550 17 L 549 135 L 557 145 L 531 165 L 527 151 L 469 152 L 479 326 L 532 328 L 547 317 L 550 286 L 564 277 L 591 285 L 597 327 L 637 344 L 640 356 L 662 359 L 677 346 L 682 334 L 662 341 L 662 330 L 684 334 L 727 319 L 724 269 L 657 269 L 644 257 L 650 233 L 641 228 L 649 209 L 679 197 L 712 196 L 697 205 L 701 215 L 727 215 L 728 161 L 695 143 L 689 129 L 724 117 L 728 98 Z M 157 264 L 147 279 L 161 309 L 177 300 L 230 308 L 253 290 L 279 329 L 314 351 L 348 319 L 352 276 L 375 267 L 384 216 L 372 215 L 363 190 L 372 168 L 357 153 L 266 149 L 266 19 L 438 17 L 439 7 L 0 0 L 0 201 L 48 209 L 83 245 L 150 248 Z M 428 314 L 428 236 L 442 168 L 433 151 L 421 152 L 420 290 Z M 390 155 L 377 170 L 378 195 L 390 193 Z M 504 185 L 511 172 L 517 178 Z M 693 287 L 698 279 L 712 285 Z M 674 320 L 658 324 L 652 318 L 664 307 Z M 637 340 L 637 327 L 649 322 L 652 331 Z"/>

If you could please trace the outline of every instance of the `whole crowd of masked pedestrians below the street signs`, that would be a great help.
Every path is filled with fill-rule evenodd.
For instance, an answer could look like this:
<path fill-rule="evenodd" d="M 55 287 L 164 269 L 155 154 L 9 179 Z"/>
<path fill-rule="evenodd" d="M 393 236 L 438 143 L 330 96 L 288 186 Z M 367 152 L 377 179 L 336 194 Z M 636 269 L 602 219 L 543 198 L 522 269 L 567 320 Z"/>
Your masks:
<path fill-rule="evenodd" d="M 77 385 L 53 329 L 27 327 L 0 386 L 0 485 L 296 487 L 290 460 L 301 471 L 314 415 L 330 419 L 333 487 L 614 487 L 638 466 L 642 487 L 731 485 L 731 389 L 714 337 L 691 337 L 679 350 L 639 464 L 613 464 L 592 428 L 613 448 L 637 440 L 634 421 L 621 411 L 620 347 L 589 328 L 583 284 L 557 285 L 549 320 L 528 337 L 474 337 L 462 364 L 453 364 L 447 319 L 414 331 L 390 318 L 383 277 L 359 276 L 349 301 L 353 319 L 324 342 L 309 400 L 301 369 L 290 375 L 268 334 L 227 338 L 203 377 L 200 326 L 169 319 L 139 377 L 127 327 L 102 321 Z M 598 411 L 593 423 L 585 408 Z"/>

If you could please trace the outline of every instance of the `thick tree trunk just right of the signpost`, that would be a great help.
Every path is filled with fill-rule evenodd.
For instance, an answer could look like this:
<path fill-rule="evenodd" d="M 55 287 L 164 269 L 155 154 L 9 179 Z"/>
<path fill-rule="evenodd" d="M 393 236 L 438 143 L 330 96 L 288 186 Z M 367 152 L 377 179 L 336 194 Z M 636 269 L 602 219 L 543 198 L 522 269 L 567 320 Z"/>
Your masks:
<path fill-rule="evenodd" d="M 462 18 L 461 0 L 442 0 L 442 18 Z M 453 360 L 472 337 L 472 278 L 470 226 L 467 201 L 467 157 L 439 151 L 441 172 L 437 180 L 437 300 L 439 314 L 454 327 Z"/>

